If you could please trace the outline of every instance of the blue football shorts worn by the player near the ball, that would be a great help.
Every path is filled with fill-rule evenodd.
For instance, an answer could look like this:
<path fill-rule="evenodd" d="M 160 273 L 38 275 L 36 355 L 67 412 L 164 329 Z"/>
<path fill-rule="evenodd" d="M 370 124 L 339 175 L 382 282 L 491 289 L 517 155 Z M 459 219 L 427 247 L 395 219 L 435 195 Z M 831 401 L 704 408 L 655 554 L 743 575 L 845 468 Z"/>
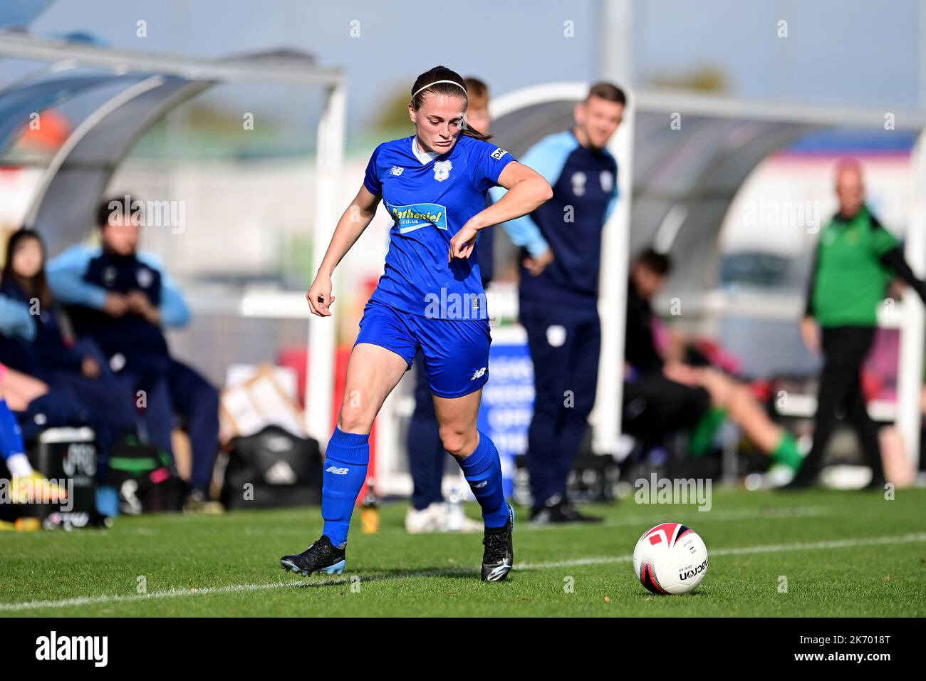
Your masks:
<path fill-rule="evenodd" d="M 421 351 L 431 392 L 463 397 L 489 380 L 488 320 L 440 320 L 369 302 L 360 320 L 358 343 L 385 347 L 409 368 Z"/>

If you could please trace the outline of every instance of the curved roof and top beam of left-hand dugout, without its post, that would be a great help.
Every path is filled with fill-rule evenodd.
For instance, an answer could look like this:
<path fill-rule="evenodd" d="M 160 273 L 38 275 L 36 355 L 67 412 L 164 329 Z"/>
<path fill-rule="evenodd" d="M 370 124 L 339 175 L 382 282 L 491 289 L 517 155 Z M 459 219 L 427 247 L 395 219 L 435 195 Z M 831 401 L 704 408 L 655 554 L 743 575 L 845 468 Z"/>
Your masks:
<path fill-rule="evenodd" d="M 341 79 L 339 70 L 319 68 L 314 57 L 288 50 L 198 59 L 7 33 L 0 35 L 0 57 L 52 65 L 0 92 L 0 158 L 27 130 L 34 112 L 76 97 L 92 104 L 44 171 L 26 217 L 26 224 L 43 233 L 51 254 L 81 241 L 100 195 L 131 147 L 182 102 L 219 82 L 331 88 Z"/>

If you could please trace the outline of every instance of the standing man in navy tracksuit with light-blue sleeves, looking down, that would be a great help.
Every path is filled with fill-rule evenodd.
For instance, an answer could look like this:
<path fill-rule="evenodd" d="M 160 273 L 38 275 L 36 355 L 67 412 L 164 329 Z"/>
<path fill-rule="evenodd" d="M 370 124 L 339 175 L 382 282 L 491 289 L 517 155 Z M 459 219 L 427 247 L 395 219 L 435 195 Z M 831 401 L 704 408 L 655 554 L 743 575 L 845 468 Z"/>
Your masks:
<path fill-rule="evenodd" d="M 625 104 L 619 87 L 594 84 L 575 107 L 575 126 L 545 137 L 521 158 L 550 183 L 553 198 L 505 224 L 526 250 L 519 310 L 536 391 L 527 454 L 533 523 L 600 520 L 572 507 L 566 480 L 594 405 L 601 230 L 618 196 L 617 163 L 605 146 Z M 493 192 L 496 200 L 504 195 L 499 188 Z"/>

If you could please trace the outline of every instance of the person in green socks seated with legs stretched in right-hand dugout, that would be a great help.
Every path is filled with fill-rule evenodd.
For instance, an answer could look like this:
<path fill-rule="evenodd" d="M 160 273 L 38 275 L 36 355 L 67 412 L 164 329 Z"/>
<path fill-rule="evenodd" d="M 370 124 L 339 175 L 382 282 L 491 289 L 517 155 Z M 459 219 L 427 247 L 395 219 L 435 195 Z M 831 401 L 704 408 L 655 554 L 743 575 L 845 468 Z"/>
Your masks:
<path fill-rule="evenodd" d="M 730 419 L 773 464 L 797 471 L 802 456 L 794 435 L 771 421 L 748 385 L 713 367 L 667 360 L 659 351 L 651 300 L 662 290 L 670 269 L 669 256 L 653 249 L 644 250 L 631 265 L 624 344 L 624 432 L 649 438 L 688 430 L 689 453 L 702 456 L 720 424 Z"/>

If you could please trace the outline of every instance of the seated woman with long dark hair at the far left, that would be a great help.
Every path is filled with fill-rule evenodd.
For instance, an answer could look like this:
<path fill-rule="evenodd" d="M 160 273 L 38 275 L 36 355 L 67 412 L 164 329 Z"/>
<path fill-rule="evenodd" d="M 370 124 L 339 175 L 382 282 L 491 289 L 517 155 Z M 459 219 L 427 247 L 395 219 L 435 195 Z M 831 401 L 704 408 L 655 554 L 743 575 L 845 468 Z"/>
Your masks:
<path fill-rule="evenodd" d="M 0 361 L 78 406 L 73 412 L 94 427 L 105 474 L 116 439 L 137 432 L 135 397 L 131 386 L 109 370 L 93 340 L 73 347 L 66 342 L 44 259 L 38 233 L 22 229 L 10 235 L 0 275 Z"/>

